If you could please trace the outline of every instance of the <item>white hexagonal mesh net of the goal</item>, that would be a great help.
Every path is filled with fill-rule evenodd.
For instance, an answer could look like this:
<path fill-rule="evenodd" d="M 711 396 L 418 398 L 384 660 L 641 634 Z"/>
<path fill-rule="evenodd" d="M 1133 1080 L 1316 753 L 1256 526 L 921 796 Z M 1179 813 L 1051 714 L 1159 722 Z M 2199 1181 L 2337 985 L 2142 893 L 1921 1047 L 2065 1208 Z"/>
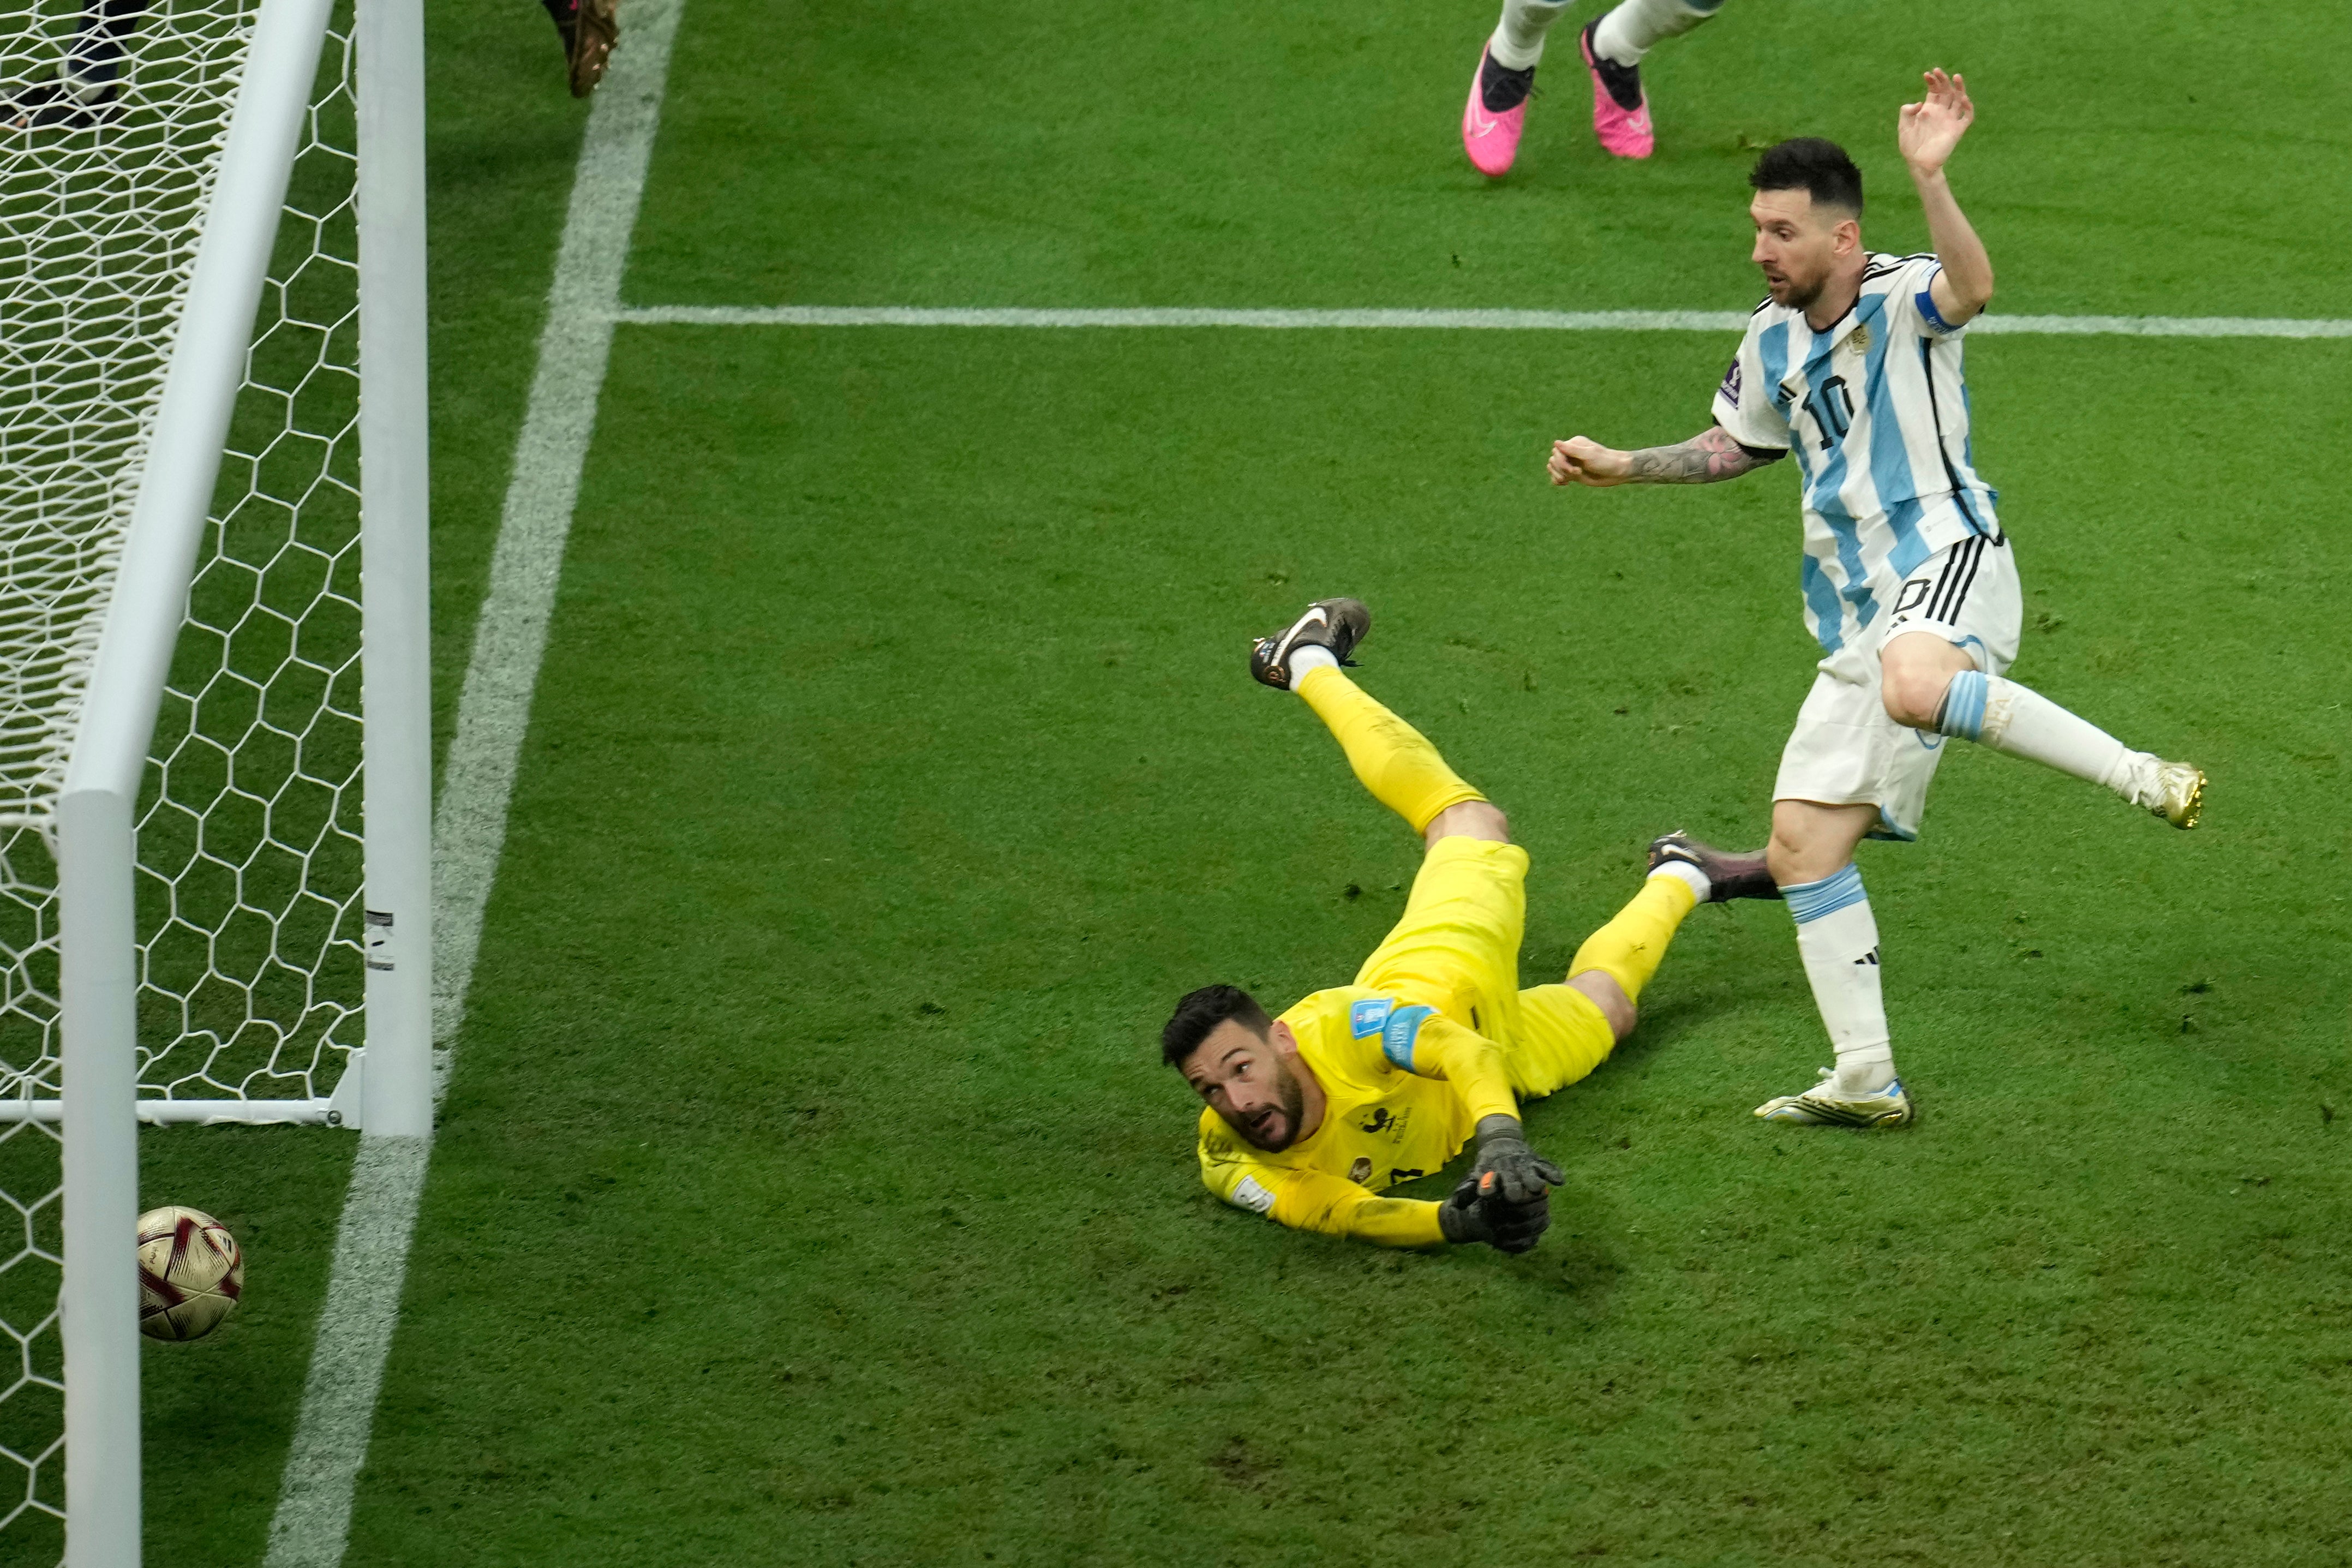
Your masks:
<path fill-rule="evenodd" d="M 0 0 L 0 1103 L 59 1093 L 49 818 L 256 9 Z M 139 804 L 143 1095 L 308 1100 L 360 1044 L 353 146 L 339 19 Z M 7 1561 L 64 1507 L 59 1197 L 0 1121 Z"/>

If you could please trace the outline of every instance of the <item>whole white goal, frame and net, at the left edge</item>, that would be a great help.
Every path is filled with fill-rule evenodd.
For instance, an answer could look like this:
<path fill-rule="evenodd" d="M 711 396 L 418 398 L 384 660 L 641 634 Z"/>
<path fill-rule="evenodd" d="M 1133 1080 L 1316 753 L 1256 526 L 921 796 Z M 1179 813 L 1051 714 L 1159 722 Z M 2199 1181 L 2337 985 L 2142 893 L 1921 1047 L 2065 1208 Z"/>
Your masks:
<path fill-rule="evenodd" d="M 132 1568 L 139 1124 L 433 1124 L 423 7 L 0 16 L 0 1549 Z"/>

